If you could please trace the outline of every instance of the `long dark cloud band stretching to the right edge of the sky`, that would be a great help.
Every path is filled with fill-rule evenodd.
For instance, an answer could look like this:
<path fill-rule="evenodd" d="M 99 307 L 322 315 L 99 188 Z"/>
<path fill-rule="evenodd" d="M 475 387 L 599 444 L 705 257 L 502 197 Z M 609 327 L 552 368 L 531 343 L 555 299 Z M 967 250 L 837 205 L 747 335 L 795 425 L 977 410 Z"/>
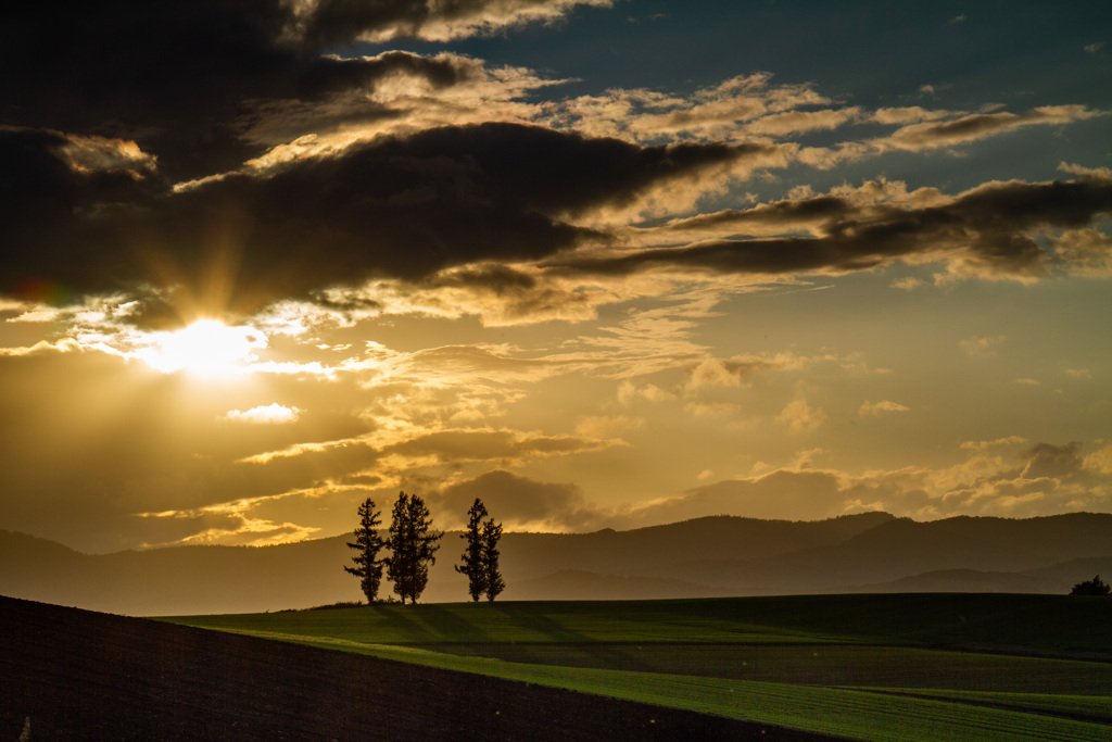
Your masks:
<path fill-rule="evenodd" d="M 900 205 L 841 206 L 831 197 L 780 209 L 811 219 L 827 212 L 817 237 L 707 240 L 684 247 L 646 249 L 617 258 L 572 258 L 563 268 L 625 275 L 652 267 L 711 269 L 741 274 L 847 273 L 888 265 L 901 258 L 963 261 L 963 269 L 987 277 L 1045 275 L 1051 256 L 1031 234 L 1075 228 L 1112 211 L 1112 182 L 1096 179 L 1050 182 L 999 182 L 969 191 L 951 202 L 926 208 Z M 753 220 L 777 214 L 754 209 Z M 804 216 L 805 215 L 805 216 Z M 741 225 L 741 214 L 719 217 Z"/>

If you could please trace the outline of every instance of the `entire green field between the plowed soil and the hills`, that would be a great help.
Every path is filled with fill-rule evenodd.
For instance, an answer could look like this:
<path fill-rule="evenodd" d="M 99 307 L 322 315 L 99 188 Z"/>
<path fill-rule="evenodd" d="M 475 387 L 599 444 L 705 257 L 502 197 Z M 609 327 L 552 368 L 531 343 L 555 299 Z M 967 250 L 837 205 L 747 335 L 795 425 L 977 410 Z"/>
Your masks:
<path fill-rule="evenodd" d="M 1112 601 L 828 595 L 180 616 L 861 740 L 1112 740 Z"/>

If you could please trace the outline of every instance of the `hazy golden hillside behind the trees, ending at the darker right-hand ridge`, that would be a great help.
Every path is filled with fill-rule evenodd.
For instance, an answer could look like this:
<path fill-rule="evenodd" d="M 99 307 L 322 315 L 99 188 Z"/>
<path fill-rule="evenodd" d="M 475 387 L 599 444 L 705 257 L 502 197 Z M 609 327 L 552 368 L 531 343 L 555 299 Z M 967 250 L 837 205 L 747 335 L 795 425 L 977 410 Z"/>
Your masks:
<path fill-rule="evenodd" d="M 600 584 L 634 576 L 646 578 L 634 581 L 636 588 L 626 596 L 721 595 L 722 590 L 697 578 L 677 582 L 663 574 L 634 573 L 699 556 L 754 558 L 837 544 L 891 518 L 868 513 L 793 523 L 723 516 L 625 532 L 507 533 L 499 544 L 508 583 L 503 597 L 605 596 L 598 592 Z M 252 613 L 357 601 L 363 598 L 358 582 L 342 570 L 351 558 L 348 540 L 334 536 L 264 547 L 182 546 L 88 555 L 0 531 L 0 593 L 130 615 Z M 463 541 L 458 533 L 447 533 L 441 545 L 423 600 L 465 601 L 466 578 L 453 568 Z M 568 571 L 577 576 L 552 577 Z M 580 581 L 589 586 L 580 587 Z M 558 587 L 547 590 L 546 583 Z M 677 591 L 677 586 L 683 588 Z"/>

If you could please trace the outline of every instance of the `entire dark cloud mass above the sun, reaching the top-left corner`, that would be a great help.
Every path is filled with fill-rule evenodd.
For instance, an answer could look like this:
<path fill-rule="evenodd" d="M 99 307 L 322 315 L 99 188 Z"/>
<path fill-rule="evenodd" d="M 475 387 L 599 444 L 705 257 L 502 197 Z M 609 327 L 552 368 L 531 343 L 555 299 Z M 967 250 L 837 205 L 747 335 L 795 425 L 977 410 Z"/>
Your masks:
<path fill-rule="evenodd" d="M 385 80 L 401 76 L 436 91 L 481 75 L 481 63 L 451 55 L 324 52 L 365 33 L 478 28 L 490 3 L 296 4 L 4 6 L 0 249 L 8 264 L 0 291 L 75 297 L 183 286 L 196 297 L 218 280 L 234 304 L 256 308 L 370 273 L 424 275 L 475 254 L 547 255 L 575 241 L 576 229 L 497 194 L 467 194 L 457 167 L 465 152 L 443 154 L 443 171 L 396 142 L 388 152 L 353 151 L 272 178 L 232 175 L 173 192 L 175 184 L 236 171 L 272 145 L 318 131 L 314 123 L 397 117 L 370 99 Z M 574 4 L 499 3 L 498 22 Z M 358 106 L 334 105 L 354 93 Z M 107 145 L 90 151 L 87 142 L 98 138 L 137 154 L 142 167 L 112 157 Z M 470 208 L 469 196 L 488 195 Z M 405 224 L 415 216 L 417 224 Z M 146 291 L 136 316 L 160 324 L 172 315 Z"/>

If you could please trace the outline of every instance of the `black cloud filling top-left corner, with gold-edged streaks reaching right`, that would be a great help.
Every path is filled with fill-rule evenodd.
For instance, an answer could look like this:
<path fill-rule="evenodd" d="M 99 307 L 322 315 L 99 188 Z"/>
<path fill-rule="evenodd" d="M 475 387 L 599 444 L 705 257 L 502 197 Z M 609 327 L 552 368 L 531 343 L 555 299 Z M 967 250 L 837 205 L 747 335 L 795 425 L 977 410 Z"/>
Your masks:
<path fill-rule="evenodd" d="M 62 11 L 49 3 L 6 3 L 0 125 L 131 139 L 158 155 L 167 177 L 185 180 L 260 154 L 261 144 L 242 135 L 276 103 L 319 100 L 397 73 L 419 77 L 433 89 L 466 76 L 466 66 L 449 58 L 325 56 L 338 44 L 368 33 L 419 37 L 445 23 L 479 28 L 492 4 L 500 6 L 504 24 L 575 3 L 298 4 L 118 0 L 69 3 Z"/>

